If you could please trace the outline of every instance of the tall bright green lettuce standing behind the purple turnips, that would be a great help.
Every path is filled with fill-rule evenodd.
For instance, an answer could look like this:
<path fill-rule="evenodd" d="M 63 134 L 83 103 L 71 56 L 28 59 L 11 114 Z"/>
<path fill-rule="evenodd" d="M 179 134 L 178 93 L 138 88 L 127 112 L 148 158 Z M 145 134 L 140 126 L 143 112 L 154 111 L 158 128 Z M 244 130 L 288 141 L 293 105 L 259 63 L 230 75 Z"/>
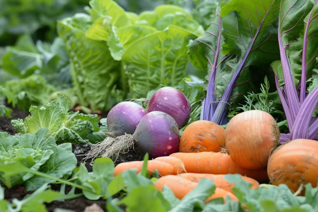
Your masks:
<path fill-rule="evenodd" d="M 176 85 L 187 69 L 189 39 L 203 33 L 189 13 L 173 5 L 137 15 L 112 0 L 92 0 L 86 10 L 90 15 L 59 21 L 58 31 L 66 42 L 79 103 L 92 110 L 117 103 L 110 92 L 117 82 L 123 95 L 129 85 L 130 98 L 146 97 L 165 81 Z"/>

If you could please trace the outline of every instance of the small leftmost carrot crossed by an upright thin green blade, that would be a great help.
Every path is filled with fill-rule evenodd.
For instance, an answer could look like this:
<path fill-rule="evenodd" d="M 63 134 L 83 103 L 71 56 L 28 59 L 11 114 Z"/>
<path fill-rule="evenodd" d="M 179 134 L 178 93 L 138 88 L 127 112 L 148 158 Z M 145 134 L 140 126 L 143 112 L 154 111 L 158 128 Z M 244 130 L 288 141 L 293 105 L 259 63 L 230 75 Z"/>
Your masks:
<path fill-rule="evenodd" d="M 131 161 L 120 163 L 115 167 L 114 176 L 126 171 L 128 169 L 137 168 L 136 174 L 139 173 L 142 169 L 143 161 Z M 173 173 L 173 166 L 169 163 L 165 163 L 162 161 L 150 160 L 147 163 L 147 170 L 150 174 L 152 174 L 155 170 L 158 170 L 160 176 L 168 175 Z"/>

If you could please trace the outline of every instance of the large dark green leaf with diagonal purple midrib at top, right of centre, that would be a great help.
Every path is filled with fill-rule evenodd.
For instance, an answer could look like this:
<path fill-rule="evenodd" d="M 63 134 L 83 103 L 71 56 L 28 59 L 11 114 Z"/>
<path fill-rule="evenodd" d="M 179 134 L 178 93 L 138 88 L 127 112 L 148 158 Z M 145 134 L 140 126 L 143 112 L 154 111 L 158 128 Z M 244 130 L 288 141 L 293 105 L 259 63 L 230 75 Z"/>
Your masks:
<path fill-rule="evenodd" d="M 280 1 L 232 0 L 221 10 L 223 54 L 236 54 L 244 66 L 272 62 L 279 58 L 277 22 Z M 235 68 L 234 68 L 235 70 Z"/>

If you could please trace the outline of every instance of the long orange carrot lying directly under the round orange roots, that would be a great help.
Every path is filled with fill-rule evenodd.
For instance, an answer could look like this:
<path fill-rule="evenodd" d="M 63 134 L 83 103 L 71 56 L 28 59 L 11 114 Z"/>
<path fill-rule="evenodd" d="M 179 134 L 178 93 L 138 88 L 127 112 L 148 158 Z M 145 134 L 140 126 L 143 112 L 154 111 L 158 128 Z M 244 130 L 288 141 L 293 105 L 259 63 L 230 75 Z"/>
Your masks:
<path fill-rule="evenodd" d="M 230 155 L 220 152 L 173 153 L 170 156 L 183 161 L 190 173 L 203 174 L 241 174 L 259 182 L 268 180 L 267 169 L 246 169 L 235 164 Z"/>

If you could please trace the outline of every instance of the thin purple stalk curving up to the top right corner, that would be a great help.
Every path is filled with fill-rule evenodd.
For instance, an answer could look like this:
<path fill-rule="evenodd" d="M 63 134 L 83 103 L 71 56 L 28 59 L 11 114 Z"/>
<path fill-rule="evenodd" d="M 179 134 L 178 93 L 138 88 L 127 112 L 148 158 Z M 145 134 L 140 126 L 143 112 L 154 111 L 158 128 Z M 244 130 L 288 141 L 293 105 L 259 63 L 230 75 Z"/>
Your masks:
<path fill-rule="evenodd" d="M 306 53 L 307 53 L 307 34 L 308 34 L 308 28 L 309 28 L 309 24 L 312 20 L 311 19 L 311 15 L 313 13 L 313 10 L 317 4 L 317 1 L 314 4 L 313 9 L 311 9 L 309 17 L 308 17 L 308 21 L 307 21 L 307 25 L 306 25 L 306 29 L 304 31 L 304 44 L 303 44 L 303 51 L 302 51 L 302 65 L 301 65 L 301 81 L 300 83 L 300 103 L 302 104 L 306 98 L 306 76 L 307 76 L 307 63 L 306 63 Z"/>

